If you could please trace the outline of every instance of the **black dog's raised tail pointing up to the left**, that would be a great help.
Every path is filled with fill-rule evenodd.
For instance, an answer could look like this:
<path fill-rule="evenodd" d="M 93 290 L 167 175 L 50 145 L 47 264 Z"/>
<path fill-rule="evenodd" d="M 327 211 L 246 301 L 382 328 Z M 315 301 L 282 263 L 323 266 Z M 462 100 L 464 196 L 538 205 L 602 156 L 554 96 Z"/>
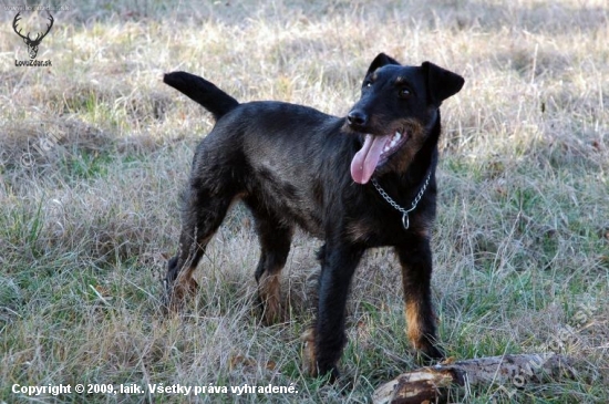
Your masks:
<path fill-rule="evenodd" d="M 237 100 L 198 75 L 173 72 L 165 74 L 163 82 L 203 105 L 216 121 L 239 105 Z"/>

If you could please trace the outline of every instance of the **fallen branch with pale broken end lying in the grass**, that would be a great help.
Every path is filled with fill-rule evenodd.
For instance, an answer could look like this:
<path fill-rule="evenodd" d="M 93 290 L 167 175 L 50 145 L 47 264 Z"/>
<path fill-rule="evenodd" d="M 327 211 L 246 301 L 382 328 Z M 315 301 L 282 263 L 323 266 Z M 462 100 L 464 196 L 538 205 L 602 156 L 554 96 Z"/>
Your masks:
<path fill-rule="evenodd" d="M 554 353 L 530 353 L 446 361 L 435 366 L 402 373 L 376 389 L 374 404 L 436 403 L 445 397 L 451 386 L 499 384 L 522 386 L 525 382 L 539 383 L 544 375 L 561 373 L 575 375 L 567 358 Z"/>

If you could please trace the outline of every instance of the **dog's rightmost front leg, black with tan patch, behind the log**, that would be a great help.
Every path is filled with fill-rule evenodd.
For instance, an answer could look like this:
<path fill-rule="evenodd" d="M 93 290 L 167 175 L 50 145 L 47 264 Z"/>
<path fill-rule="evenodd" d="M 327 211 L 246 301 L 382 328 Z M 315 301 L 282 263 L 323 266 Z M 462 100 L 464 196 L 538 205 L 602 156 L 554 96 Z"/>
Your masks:
<path fill-rule="evenodd" d="M 423 362 L 444 358 L 437 345 L 435 314 L 431 301 L 432 251 L 426 237 L 416 237 L 407 246 L 396 247 L 402 265 L 407 335 L 424 355 Z"/>

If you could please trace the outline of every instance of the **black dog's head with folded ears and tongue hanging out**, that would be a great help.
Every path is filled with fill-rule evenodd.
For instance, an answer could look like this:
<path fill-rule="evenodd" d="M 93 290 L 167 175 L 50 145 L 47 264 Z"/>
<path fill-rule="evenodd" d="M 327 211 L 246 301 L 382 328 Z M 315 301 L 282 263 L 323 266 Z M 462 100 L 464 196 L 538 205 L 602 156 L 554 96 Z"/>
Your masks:
<path fill-rule="evenodd" d="M 436 124 L 440 105 L 463 83 L 462 76 L 433 63 L 403 66 L 379 54 L 347 116 L 347 127 L 362 136 L 351 162 L 353 180 L 365 184 L 374 173 L 405 172 Z"/>

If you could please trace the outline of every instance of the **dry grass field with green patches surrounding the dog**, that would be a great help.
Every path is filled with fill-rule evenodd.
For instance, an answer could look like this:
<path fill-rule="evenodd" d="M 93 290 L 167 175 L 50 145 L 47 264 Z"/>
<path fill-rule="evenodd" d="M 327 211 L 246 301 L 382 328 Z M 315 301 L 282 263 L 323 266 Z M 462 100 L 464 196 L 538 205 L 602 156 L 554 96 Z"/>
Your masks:
<path fill-rule="evenodd" d="M 291 318 L 261 327 L 258 244 L 240 207 L 199 266 L 196 301 L 183 317 L 158 313 L 178 194 L 213 125 L 162 73 L 343 115 L 379 52 L 466 80 L 443 106 L 433 237 L 443 346 L 456 359 L 560 351 L 578 370 L 452 402 L 609 402 L 607 1 L 87 0 L 52 11 L 37 58 L 48 68 L 16 66 L 29 58 L 16 4 L 2 6 L 0 403 L 365 403 L 415 367 L 396 260 L 373 250 L 352 288 L 342 379 L 306 376 L 299 336 L 320 244 L 297 237 L 283 271 Z M 27 30 L 44 28 L 45 13 L 22 15 Z M 12 392 L 61 383 L 145 394 Z M 298 393 L 185 397 L 148 384 Z"/>

